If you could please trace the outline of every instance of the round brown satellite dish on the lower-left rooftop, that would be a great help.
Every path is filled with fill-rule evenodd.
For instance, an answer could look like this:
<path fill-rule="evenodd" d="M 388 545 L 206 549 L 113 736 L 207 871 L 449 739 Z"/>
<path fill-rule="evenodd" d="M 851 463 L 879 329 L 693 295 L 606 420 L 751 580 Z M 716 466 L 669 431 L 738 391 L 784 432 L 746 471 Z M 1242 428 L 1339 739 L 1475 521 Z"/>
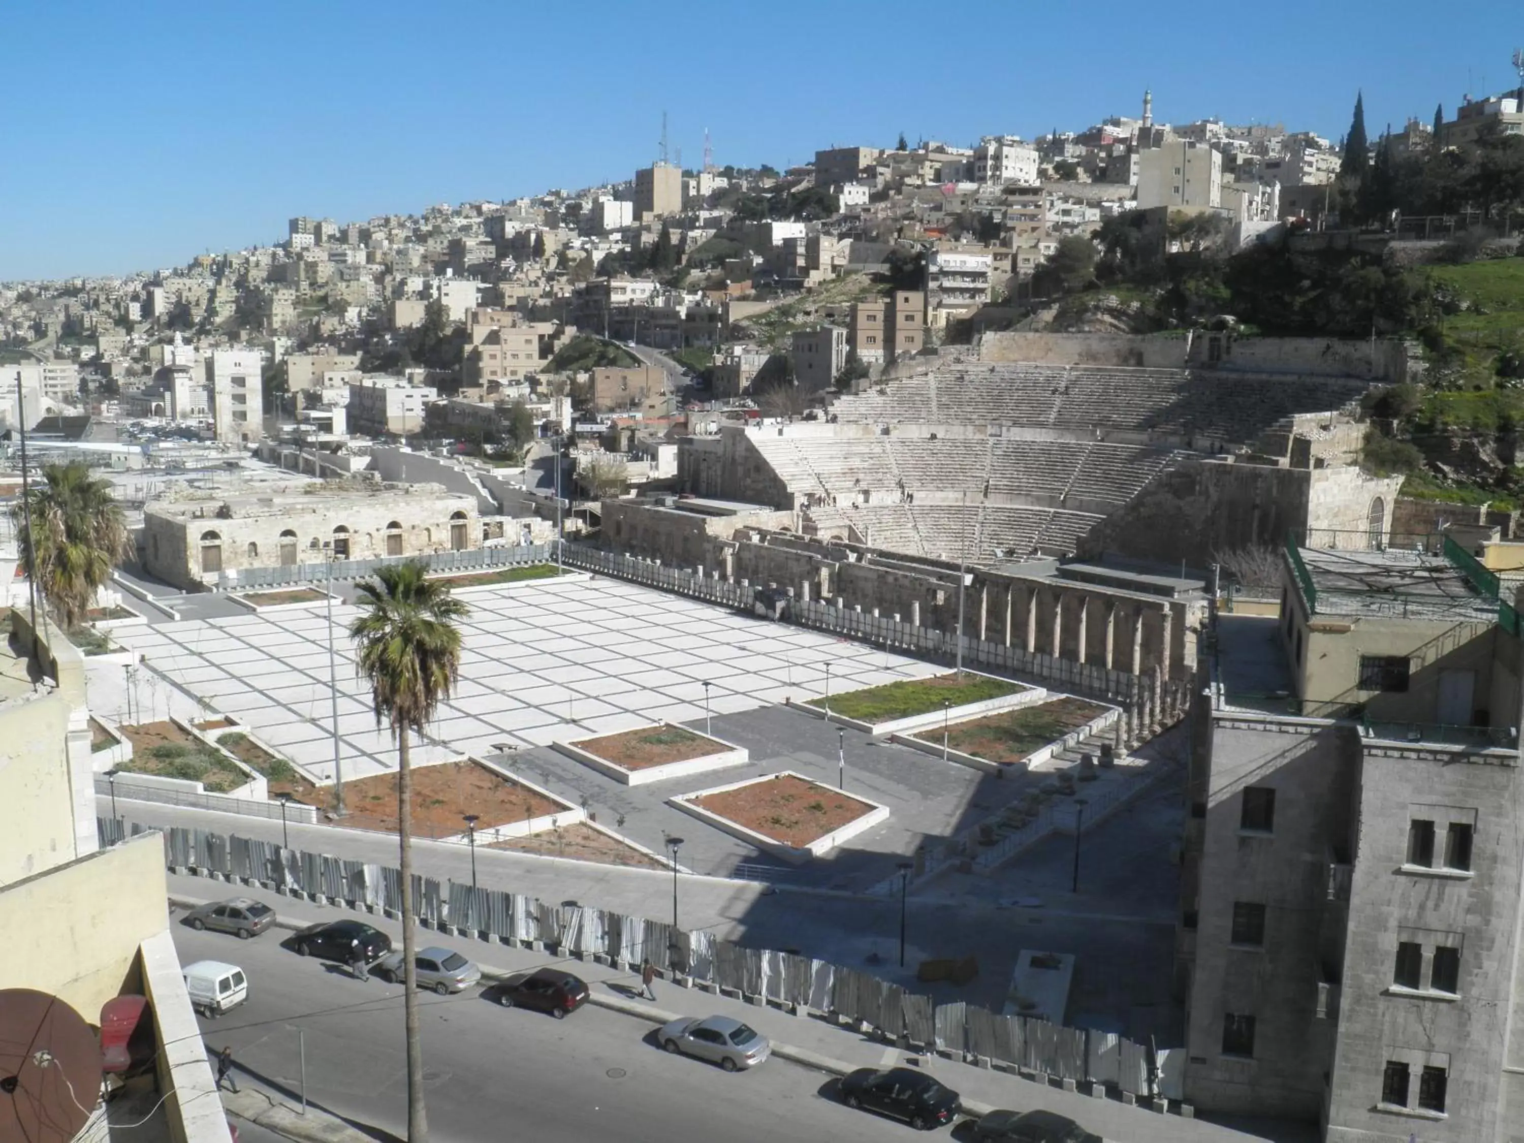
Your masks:
<path fill-rule="evenodd" d="M 101 1047 L 67 1003 L 0 989 L 0 1140 L 69 1143 L 101 1102 Z"/>

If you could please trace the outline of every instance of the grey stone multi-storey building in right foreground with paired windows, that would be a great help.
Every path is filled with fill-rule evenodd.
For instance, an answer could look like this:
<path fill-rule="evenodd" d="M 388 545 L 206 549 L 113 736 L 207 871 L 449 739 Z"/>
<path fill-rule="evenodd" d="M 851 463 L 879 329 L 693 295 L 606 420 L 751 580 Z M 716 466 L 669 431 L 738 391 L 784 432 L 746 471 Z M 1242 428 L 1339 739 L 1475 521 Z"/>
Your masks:
<path fill-rule="evenodd" d="M 1291 541 L 1279 617 L 1215 620 L 1177 943 L 1196 1106 L 1519 1138 L 1519 622 L 1445 552 Z"/>

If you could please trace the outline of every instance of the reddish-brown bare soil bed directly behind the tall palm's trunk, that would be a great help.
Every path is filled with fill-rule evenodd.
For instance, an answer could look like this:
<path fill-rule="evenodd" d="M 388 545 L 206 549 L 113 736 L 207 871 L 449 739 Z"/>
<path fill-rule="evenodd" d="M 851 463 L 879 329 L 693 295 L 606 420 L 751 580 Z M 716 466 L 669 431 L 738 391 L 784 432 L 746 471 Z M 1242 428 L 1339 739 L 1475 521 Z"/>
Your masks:
<path fill-rule="evenodd" d="M 352 829 L 395 834 L 396 774 L 373 774 L 344 782 L 344 818 Z M 287 792 L 294 802 L 334 811 L 334 788 L 314 786 L 303 777 L 271 780 L 270 796 Z M 494 774 L 475 762 L 440 762 L 413 770 L 413 832 L 419 837 L 454 837 L 466 832 L 465 814 L 479 817 L 477 831 L 564 814 L 567 808 L 526 786 Z"/>

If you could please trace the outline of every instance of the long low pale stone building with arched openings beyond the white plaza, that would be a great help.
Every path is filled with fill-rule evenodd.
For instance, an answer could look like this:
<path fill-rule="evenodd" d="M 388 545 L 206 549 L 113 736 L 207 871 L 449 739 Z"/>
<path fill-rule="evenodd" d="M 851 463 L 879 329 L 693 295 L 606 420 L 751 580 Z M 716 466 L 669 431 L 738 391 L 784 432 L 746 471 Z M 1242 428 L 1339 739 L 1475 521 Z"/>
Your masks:
<path fill-rule="evenodd" d="M 143 565 L 186 590 L 235 584 L 245 568 L 477 547 L 477 501 L 439 485 L 335 491 L 308 485 L 276 495 L 210 494 L 143 509 Z"/>

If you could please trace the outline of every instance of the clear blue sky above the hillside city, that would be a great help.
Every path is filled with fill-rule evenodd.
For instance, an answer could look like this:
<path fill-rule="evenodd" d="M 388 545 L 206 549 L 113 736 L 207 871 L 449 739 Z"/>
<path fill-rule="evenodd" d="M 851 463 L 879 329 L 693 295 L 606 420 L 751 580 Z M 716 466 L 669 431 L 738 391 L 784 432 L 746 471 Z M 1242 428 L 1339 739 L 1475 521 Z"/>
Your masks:
<path fill-rule="evenodd" d="M 322 0 L 0 6 L 0 280 L 177 265 L 285 235 L 683 163 L 968 145 L 1137 114 L 1375 136 L 1516 84 L 1498 29 L 1413 0 Z M 1458 9 L 1457 9 L 1458 11 Z"/>

